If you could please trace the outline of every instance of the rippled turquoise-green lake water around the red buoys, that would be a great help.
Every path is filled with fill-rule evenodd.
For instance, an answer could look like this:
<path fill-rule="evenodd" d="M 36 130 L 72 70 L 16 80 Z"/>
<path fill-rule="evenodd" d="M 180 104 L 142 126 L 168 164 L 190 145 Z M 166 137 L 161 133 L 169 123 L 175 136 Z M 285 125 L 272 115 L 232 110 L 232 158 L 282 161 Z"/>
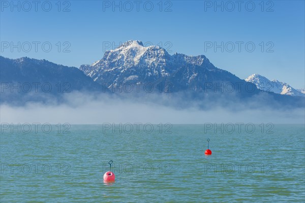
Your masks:
<path fill-rule="evenodd" d="M 304 125 L 128 127 L 2 129 L 1 202 L 304 202 Z"/>

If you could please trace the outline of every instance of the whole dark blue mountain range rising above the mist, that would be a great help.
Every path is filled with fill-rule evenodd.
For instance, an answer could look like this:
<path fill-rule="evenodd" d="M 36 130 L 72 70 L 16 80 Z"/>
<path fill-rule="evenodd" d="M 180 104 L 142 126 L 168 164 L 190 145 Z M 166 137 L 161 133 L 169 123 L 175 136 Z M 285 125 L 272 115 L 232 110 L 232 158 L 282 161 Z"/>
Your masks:
<path fill-rule="evenodd" d="M 128 41 L 117 49 L 106 51 L 102 59 L 91 65 L 81 65 L 79 69 L 27 57 L 9 59 L 0 56 L 0 65 L 1 103 L 20 105 L 33 100 L 49 101 L 50 97 L 60 102 L 67 91 L 110 94 L 115 89 L 115 94 L 124 98 L 136 96 L 145 101 L 154 97 L 157 102 L 170 93 L 170 100 L 166 100 L 165 104 L 182 108 L 192 102 L 202 108 L 211 108 L 211 105 L 226 107 L 229 104 L 304 106 L 304 97 L 265 90 L 257 85 L 256 77 L 242 80 L 228 71 L 218 69 L 204 55 L 170 55 L 159 46 L 144 47 L 140 41 Z M 45 88 L 40 87 L 38 93 L 33 93 L 33 90 L 28 93 L 21 87 L 21 92 L 16 92 L 16 88 L 11 91 L 12 86 L 18 86 L 18 83 L 31 83 L 32 88 L 35 86 L 33 83 L 40 83 L 40 86 L 47 83 L 46 86 L 52 89 L 46 92 Z M 125 84 L 139 87 L 149 84 L 154 91 L 121 94 L 117 89 Z M 294 89 L 291 92 L 296 94 Z M 151 93 L 162 94 L 156 97 Z"/>

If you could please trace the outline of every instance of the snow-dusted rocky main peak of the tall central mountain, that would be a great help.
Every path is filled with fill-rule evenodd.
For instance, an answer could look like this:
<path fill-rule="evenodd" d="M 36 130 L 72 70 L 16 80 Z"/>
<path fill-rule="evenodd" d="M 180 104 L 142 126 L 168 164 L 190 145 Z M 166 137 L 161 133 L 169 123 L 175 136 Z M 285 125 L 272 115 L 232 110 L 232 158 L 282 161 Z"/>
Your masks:
<path fill-rule="evenodd" d="M 104 57 L 92 65 L 81 65 L 80 70 L 100 83 L 124 81 L 130 76 L 152 81 L 169 75 L 170 71 L 165 69 L 169 57 L 159 46 L 144 47 L 140 41 L 128 41 L 117 49 L 106 51 Z"/>

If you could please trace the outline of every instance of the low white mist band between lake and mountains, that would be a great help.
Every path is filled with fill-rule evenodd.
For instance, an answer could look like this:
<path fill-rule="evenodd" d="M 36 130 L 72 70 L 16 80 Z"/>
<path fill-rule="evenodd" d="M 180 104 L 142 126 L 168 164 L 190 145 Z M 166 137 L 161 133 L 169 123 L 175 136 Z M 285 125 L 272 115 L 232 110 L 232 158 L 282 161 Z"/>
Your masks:
<path fill-rule="evenodd" d="M 151 94 L 147 99 L 71 92 L 64 100 L 57 103 L 50 97 L 47 103 L 28 101 L 22 106 L 2 103 L 1 123 L 305 123 L 304 108 L 275 108 L 277 104 L 266 105 L 260 96 L 228 103 L 221 97 L 188 101 L 183 95 Z"/>

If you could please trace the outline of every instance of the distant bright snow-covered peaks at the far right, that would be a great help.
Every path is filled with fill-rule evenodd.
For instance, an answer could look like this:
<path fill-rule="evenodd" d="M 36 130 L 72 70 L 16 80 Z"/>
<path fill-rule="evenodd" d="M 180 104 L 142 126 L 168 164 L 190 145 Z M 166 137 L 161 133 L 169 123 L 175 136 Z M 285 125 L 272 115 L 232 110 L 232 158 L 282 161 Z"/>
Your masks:
<path fill-rule="evenodd" d="M 305 96 L 305 91 L 292 88 L 290 85 L 278 80 L 269 80 L 259 74 L 253 74 L 245 79 L 247 82 L 254 83 L 258 89 L 274 92 L 277 94 L 291 95 L 291 96 Z"/>

